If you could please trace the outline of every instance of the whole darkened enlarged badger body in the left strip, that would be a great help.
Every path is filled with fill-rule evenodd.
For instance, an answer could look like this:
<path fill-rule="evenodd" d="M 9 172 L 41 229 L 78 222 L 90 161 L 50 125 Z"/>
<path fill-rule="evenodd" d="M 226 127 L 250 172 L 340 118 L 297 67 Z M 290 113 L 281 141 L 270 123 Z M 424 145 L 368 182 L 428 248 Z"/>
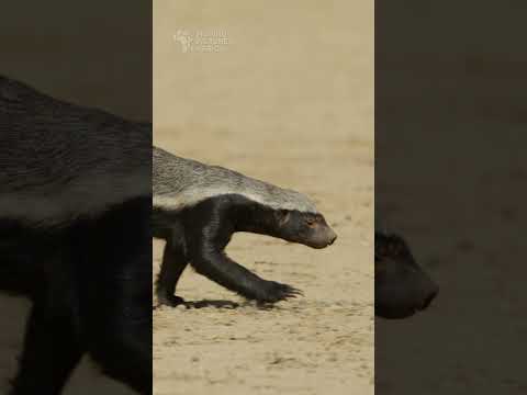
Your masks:
<path fill-rule="evenodd" d="M 12 394 L 59 394 L 85 352 L 152 392 L 150 131 L 0 76 L 0 291 L 33 302 Z"/>

